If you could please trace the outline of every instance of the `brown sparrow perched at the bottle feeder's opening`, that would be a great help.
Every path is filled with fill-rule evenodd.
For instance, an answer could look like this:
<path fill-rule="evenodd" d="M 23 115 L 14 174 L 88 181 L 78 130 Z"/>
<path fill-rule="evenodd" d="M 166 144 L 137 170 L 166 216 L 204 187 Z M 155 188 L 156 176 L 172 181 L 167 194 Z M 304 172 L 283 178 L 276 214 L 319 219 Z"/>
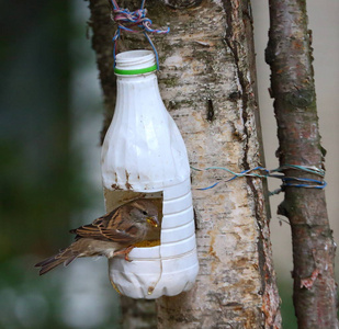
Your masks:
<path fill-rule="evenodd" d="M 35 266 L 41 268 L 42 275 L 61 263 L 67 266 L 78 257 L 105 256 L 110 259 L 125 254 L 129 260 L 133 245 L 146 240 L 158 225 L 158 208 L 150 200 L 128 202 L 92 224 L 70 230 L 76 234 L 76 241 Z"/>

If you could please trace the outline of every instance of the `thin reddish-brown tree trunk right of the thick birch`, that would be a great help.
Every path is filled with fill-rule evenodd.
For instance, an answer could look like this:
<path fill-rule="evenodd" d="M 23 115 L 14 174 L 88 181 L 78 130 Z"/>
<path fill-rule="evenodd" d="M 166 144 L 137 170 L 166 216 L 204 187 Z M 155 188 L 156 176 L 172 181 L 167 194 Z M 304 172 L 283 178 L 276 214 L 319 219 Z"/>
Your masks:
<path fill-rule="evenodd" d="M 270 20 L 267 63 L 272 71 L 280 166 L 323 168 L 306 3 L 270 0 Z M 295 170 L 285 174 L 319 180 Z M 279 213 L 289 217 L 292 228 L 298 328 L 338 328 L 335 245 L 324 190 L 285 188 Z"/>

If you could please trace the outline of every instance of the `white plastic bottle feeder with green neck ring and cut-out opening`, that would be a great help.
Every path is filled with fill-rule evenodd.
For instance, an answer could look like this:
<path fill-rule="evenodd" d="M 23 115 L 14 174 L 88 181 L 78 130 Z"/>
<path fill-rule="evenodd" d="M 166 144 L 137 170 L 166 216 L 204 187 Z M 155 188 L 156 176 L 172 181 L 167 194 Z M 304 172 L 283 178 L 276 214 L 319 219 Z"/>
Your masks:
<path fill-rule="evenodd" d="M 137 197 L 158 204 L 158 236 L 109 261 L 110 280 L 133 298 L 173 296 L 190 290 L 199 263 L 187 149 L 160 98 L 155 55 L 116 56 L 117 98 L 102 147 L 106 211 Z M 146 245 L 146 246 L 145 246 Z"/>

